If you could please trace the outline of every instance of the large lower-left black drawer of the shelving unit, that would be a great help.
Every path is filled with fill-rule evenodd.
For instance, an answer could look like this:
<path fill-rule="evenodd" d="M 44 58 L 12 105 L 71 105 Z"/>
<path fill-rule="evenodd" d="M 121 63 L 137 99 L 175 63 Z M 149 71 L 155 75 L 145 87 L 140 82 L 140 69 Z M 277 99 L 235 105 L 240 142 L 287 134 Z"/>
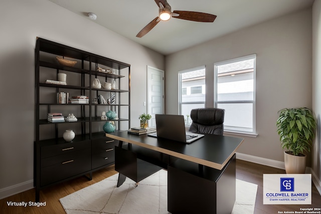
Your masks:
<path fill-rule="evenodd" d="M 91 152 L 84 149 L 42 160 L 41 186 L 91 170 Z"/>

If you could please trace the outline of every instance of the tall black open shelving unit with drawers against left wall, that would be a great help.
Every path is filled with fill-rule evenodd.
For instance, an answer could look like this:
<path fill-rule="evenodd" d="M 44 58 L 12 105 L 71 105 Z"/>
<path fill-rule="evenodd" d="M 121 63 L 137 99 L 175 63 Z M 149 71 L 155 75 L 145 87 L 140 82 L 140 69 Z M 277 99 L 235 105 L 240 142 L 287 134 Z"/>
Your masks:
<path fill-rule="evenodd" d="M 113 122 L 116 129 L 130 127 L 130 65 L 42 38 L 37 38 L 35 54 L 34 185 L 36 201 L 39 201 L 43 188 L 82 175 L 91 179 L 93 171 L 114 163 L 114 151 L 105 147 L 114 148 L 116 141 L 107 138 L 102 127 L 105 122 Z M 56 57 L 77 63 L 74 67 L 64 66 L 56 61 Z M 101 72 L 100 68 L 110 73 Z M 66 83 L 55 82 L 59 73 L 67 75 Z M 95 78 L 101 83 L 115 82 L 117 89 L 92 88 Z M 45 83 L 49 82 L 47 80 L 60 84 Z M 61 94 L 66 100 L 64 104 L 59 103 Z M 88 99 L 88 103 L 68 103 L 70 98 L 79 96 Z M 93 102 L 101 96 L 106 100 L 111 98 L 111 103 Z M 101 120 L 102 111 L 109 110 L 115 111 L 120 118 Z M 64 117 L 73 113 L 77 121 L 50 122 L 47 115 L 51 112 L 61 113 Z M 63 138 L 66 129 L 76 133 L 71 142 Z M 104 155 L 106 158 L 100 160 Z M 62 158 L 73 157 L 77 158 L 61 164 Z"/>

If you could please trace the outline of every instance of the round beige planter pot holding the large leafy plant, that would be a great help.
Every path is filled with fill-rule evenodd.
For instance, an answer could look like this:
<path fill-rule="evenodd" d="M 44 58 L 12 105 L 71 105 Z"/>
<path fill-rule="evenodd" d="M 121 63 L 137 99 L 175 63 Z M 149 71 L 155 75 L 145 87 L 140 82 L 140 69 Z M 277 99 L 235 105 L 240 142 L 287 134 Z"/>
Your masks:
<path fill-rule="evenodd" d="M 284 164 L 287 174 L 304 174 L 306 166 L 306 156 L 294 156 L 284 151 Z"/>

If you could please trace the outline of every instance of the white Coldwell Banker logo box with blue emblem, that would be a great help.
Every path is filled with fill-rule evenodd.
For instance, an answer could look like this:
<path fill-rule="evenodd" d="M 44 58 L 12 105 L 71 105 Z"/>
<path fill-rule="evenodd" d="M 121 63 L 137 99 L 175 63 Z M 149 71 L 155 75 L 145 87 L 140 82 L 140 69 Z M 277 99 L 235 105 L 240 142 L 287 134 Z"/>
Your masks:
<path fill-rule="evenodd" d="M 263 174 L 263 204 L 311 204 L 311 174 Z"/>

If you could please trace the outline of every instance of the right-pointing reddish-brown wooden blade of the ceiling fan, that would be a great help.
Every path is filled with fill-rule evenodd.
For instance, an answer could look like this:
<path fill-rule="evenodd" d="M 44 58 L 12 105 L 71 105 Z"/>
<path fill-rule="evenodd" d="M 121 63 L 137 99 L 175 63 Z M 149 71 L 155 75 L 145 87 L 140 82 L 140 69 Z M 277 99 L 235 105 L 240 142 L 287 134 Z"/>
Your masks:
<path fill-rule="evenodd" d="M 179 16 L 173 16 L 173 18 L 189 20 L 194 22 L 214 22 L 216 18 L 216 16 L 212 14 L 192 11 L 173 11 L 173 13 L 179 14 Z"/>

